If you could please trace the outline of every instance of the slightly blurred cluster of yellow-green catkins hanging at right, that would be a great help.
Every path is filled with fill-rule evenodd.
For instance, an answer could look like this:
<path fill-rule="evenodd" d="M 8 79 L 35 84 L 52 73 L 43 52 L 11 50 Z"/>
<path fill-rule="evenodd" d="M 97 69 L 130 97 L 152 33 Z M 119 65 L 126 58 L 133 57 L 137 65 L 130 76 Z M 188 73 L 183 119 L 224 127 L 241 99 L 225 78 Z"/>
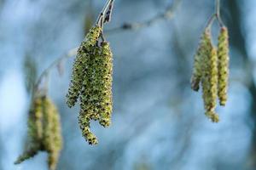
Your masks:
<path fill-rule="evenodd" d="M 191 77 L 191 88 L 198 91 L 202 87 L 205 114 L 212 122 L 218 122 L 215 112 L 217 98 L 219 105 L 227 101 L 229 77 L 229 36 L 225 26 L 220 28 L 218 47 L 212 44 L 211 29 L 207 29 L 201 36 L 201 42 L 195 54 L 194 71 Z"/>

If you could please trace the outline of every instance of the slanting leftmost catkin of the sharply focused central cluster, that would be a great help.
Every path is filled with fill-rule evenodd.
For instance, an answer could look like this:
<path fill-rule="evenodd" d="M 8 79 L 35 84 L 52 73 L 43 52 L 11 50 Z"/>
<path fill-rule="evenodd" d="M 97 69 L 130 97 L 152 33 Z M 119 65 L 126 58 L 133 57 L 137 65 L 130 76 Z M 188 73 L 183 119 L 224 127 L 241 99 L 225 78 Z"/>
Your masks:
<path fill-rule="evenodd" d="M 90 53 L 90 50 L 96 45 L 101 32 L 102 28 L 100 26 L 91 28 L 79 47 L 77 57 L 73 64 L 73 74 L 67 92 L 67 105 L 69 107 L 73 107 L 79 98 L 80 91 L 83 88 L 84 68 L 86 68 L 88 53 Z"/>

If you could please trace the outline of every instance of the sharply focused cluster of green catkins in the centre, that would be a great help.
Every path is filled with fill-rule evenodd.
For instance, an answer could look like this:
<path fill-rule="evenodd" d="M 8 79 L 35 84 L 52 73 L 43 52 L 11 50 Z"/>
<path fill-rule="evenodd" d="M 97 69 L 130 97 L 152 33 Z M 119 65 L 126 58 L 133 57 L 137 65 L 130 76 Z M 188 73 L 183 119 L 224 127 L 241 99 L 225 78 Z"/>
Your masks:
<path fill-rule="evenodd" d="M 67 105 L 73 107 L 79 99 L 79 126 L 89 144 L 97 144 L 90 132 L 90 121 L 103 127 L 111 123 L 113 56 L 108 42 L 99 42 L 100 26 L 94 26 L 81 43 L 73 64 L 73 74 L 67 92 Z"/>

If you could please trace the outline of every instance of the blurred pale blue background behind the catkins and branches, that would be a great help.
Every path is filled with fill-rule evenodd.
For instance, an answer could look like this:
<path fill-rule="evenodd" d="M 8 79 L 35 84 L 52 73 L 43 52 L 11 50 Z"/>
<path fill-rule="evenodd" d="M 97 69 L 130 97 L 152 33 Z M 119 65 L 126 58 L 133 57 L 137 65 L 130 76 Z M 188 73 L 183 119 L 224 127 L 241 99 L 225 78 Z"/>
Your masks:
<path fill-rule="evenodd" d="M 116 0 L 105 29 L 143 22 L 173 0 Z M 219 123 L 204 116 L 201 92 L 190 89 L 193 54 L 214 1 L 180 0 L 172 20 L 133 31 L 106 31 L 114 54 L 113 123 L 92 123 L 99 144 L 81 135 L 79 107 L 65 95 L 73 58 L 64 74 L 51 71 L 49 95 L 61 114 L 60 170 L 256 169 L 256 1 L 221 0 L 230 30 L 230 88 Z M 26 141 L 30 94 L 26 60 L 37 74 L 79 46 L 102 0 L 0 0 L 0 170 L 46 170 L 47 154 L 15 166 Z M 218 25 L 212 28 L 218 36 Z M 215 38 L 216 42 L 216 38 Z M 36 74 L 36 71 L 31 73 Z"/>

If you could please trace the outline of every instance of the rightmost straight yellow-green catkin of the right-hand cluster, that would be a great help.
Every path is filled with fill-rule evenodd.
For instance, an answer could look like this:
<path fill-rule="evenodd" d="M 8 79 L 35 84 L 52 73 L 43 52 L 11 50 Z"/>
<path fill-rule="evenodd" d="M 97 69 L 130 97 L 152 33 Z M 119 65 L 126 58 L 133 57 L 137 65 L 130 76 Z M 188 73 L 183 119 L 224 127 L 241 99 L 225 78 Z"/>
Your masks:
<path fill-rule="evenodd" d="M 218 99 L 219 105 L 227 101 L 227 88 L 229 77 L 229 33 L 223 26 L 218 36 Z"/>

